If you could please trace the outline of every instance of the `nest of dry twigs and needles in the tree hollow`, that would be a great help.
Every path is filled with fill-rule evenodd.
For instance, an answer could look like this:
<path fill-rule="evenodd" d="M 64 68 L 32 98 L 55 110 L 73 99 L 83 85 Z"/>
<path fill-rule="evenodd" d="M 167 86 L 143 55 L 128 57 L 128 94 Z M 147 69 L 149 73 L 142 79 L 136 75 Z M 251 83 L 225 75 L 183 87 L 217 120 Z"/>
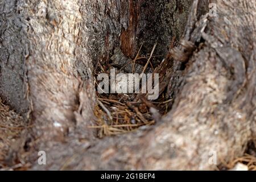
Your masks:
<path fill-rule="evenodd" d="M 148 55 L 138 52 L 133 60 L 125 57 L 121 50 L 115 50 L 111 63 L 97 63 L 96 77 L 100 73 L 109 75 L 112 68 L 116 69 L 117 73 L 157 73 L 158 65 L 155 63 L 159 63 L 161 56 L 154 55 L 155 47 L 156 44 Z M 98 85 L 96 81 L 96 88 Z M 142 84 L 140 86 L 143 87 Z M 142 93 L 97 93 L 97 105 L 94 110 L 97 121 L 95 126 L 90 128 L 97 129 L 98 137 L 102 138 L 154 125 L 157 115 L 164 115 L 170 110 L 171 101 L 166 92 L 162 92 L 156 100 L 147 100 L 147 94 Z"/>

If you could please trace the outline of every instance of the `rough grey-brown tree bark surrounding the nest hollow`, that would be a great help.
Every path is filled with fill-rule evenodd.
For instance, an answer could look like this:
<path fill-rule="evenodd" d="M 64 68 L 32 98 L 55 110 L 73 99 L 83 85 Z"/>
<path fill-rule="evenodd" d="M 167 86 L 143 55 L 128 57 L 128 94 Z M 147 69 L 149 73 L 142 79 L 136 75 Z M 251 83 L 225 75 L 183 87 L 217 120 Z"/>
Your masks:
<path fill-rule="evenodd" d="M 215 169 L 209 152 L 218 164 L 242 155 L 256 137 L 256 5 L 210 2 L 217 17 L 207 0 L 2 0 L 0 96 L 34 125 L 28 160 L 47 152 L 32 169 Z M 174 36 L 180 45 L 168 53 Z M 133 59 L 142 42 L 145 54 L 160 44 L 172 109 L 154 126 L 97 139 L 87 127 L 93 69 L 117 47 Z"/>

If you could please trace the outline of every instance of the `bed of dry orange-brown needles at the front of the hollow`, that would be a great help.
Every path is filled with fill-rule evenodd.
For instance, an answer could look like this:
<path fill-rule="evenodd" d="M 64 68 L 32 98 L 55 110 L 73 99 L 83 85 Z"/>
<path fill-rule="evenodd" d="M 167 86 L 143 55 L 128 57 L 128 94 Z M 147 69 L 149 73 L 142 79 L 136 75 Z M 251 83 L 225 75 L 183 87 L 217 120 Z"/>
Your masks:
<path fill-rule="evenodd" d="M 114 95 L 113 95 L 114 96 Z M 112 97 L 113 97 L 112 96 Z M 133 107 L 131 103 L 108 99 L 98 98 L 98 104 L 95 107 L 94 114 L 98 118 L 96 126 L 90 126 L 98 130 L 98 137 L 124 134 L 138 129 L 140 126 L 152 125 L 152 120 L 148 108 Z M 129 103 L 129 104 L 127 104 Z M 102 106 L 103 105 L 103 106 Z"/>

